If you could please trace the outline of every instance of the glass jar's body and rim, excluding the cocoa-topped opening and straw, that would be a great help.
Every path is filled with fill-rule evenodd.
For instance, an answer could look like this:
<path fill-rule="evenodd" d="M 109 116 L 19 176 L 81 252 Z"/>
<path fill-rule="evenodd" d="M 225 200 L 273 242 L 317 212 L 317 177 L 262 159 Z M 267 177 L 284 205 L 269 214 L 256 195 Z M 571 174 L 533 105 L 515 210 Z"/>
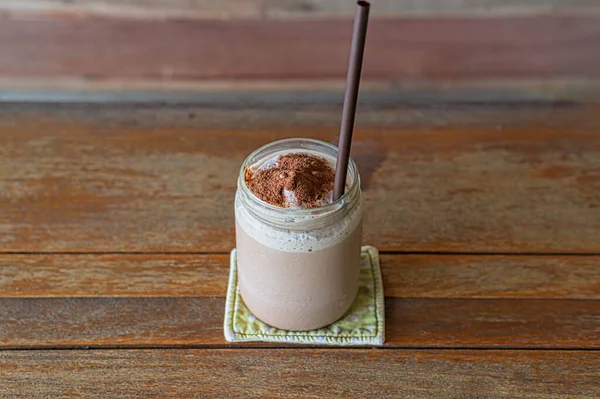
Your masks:
<path fill-rule="evenodd" d="M 344 195 L 312 209 L 270 205 L 246 186 L 244 171 L 278 155 L 303 152 L 331 161 L 337 148 L 311 139 L 267 144 L 242 164 L 235 198 L 238 284 L 242 299 L 265 323 L 312 330 L 338 320 L 358 292 L 362 192 L 350 159 Z"/>

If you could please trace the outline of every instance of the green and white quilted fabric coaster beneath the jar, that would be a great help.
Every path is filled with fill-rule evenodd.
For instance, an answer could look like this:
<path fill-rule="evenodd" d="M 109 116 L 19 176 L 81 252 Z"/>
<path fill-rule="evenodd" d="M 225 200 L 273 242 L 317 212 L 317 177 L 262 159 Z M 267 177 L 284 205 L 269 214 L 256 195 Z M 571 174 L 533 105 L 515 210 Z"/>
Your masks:
<path fill-rule="evenodd" d="M 383 285 L 379 252 L 362 247 L 360 287 L 352 307 L 341 319 L 312 331 L 287 331 L 269 326 L 248 310 L 237 286 L 236 250 L 231 251 L 231 269 L 225 303 L 225 339 L 229 342 L 289 342 L 311 345 L 382 345 L 385 340 Z"/>

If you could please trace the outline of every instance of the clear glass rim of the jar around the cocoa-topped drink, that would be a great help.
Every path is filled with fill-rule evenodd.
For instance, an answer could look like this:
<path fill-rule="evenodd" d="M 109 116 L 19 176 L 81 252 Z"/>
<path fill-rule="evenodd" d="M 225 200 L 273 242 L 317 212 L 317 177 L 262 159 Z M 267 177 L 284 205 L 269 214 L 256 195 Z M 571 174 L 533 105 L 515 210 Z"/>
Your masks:
<path fill-rule="evenodd" d="M 342 205 L 344 205 L 346 202 L 348 202 L 348 199 L 351 196 L 353 196 L 357 190 L 360 189 L 360 176 L 358 174 L 358 167 L 356 166 L 356 163 L 354 162 L 352 157 L 350 157 L 350 159 L 348 161 L 348 172 L 352 178 L 352 181 L 350 182 L 350 188 L 348 190 L 345 190 L 344 194 L 337 200 L 335 200 L 329 204 L 319 206 L 319 207 L 306 208 L 306 209 L 303 209 L 303 208 L 295 209 L 295 208 L 282 208 L 279 206 L 271 205 L 268 202 L 263 201 L 260 198 L 258 198 L 252 192 L 252 190 L 250 190 L 250 188 L 246 185 L 246 181 L 244 179 L 244 172 L 245 172 L 246 168 L 248 166 L 250 166 L 249 163 L 250 163 L 251 159 L 253 159 L 258 154 L 260 154 L 261 152 L 263 152 L 271 147 L 274 147 L 277 145 L 282 145 L 282 144 L 291 144 L 293 142 L 298 142 L 299 144 L 308 143 L 308 144 L 316 144 L 318 146 L 323 146 L 323 147 L 329 149 L 331 151 L 332 155 L 335 155 L 335 158 L 337 159 L 338 148 L 335 145 L 333 145 L 331 143 L 327 143 L 325 141 L 303 138 L 303 137 L 288 138 L 288 139 L 272 141 L 270 143 L 267 143 L 267 144 L 257 148 L 256 150 L 252 151 L 250 153 L 250 155 L 248 155 L 246 157 L 246 159 L 244 160 L 244 162 L 242 163 L 242 166 L 240 168 L 240 174 L 238 177 L 238 187 L 241 187 L 242 191 L 246 195 L 248 195 L 250 198 L 252 198 L 253 201 L 256 201 L 258 204 L 260 204 L 267 211 L 273 211 L 276 213 L 285 213 L 286 215 L 289 215 L 289 216 L 300 216 L 301 217 L 301 216 L 311 216 L 311 215 L 315 215 L 315 214 L 326 214 L 326 213 L 340 209 L 342 207 Z M 301 148 L 301 146 L 299 146 L 298 151 L 301 151 L 301 150 L 302 150 L 302 148 Z M 292 151 L 290 151 L 290 152 L 292 152 Z"/>

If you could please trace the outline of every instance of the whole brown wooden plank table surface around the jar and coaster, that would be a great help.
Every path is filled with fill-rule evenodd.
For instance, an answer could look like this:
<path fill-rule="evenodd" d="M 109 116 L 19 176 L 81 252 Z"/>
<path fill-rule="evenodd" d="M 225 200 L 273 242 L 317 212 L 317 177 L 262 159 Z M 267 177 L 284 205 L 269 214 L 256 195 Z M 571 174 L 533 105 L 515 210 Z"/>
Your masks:
<path fill-rule="evenodd" d="M 0 397 L 600 397 L 600 108 L 368 95 L 381 348 L 223 337 L 238 168 L 340 104 L 0 107 Z"/>

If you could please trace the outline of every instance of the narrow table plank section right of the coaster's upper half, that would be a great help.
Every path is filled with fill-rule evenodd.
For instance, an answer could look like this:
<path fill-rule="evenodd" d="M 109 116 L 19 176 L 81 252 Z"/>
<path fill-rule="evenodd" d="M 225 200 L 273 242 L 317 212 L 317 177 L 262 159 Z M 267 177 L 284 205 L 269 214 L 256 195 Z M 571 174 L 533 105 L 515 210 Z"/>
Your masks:
<path fill-rule="evenodd" d="M 397 298 L 600 299 L 598 257 L 383 255 Z"/>

